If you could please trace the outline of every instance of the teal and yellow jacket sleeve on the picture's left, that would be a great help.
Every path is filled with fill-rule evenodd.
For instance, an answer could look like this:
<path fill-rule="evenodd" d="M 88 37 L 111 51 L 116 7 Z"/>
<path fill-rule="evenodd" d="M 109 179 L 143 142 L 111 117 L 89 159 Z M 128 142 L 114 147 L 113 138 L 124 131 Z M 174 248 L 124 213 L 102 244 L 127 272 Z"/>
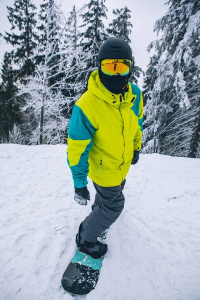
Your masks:
<path fill-rule="evenodd" d="M 88 154 L 93 145 L 94 132 L 95 128 L 87 116 L 74 104 L 68 127 L 67 163 L 75 187 L 84 187 L 87 184 Z"/>

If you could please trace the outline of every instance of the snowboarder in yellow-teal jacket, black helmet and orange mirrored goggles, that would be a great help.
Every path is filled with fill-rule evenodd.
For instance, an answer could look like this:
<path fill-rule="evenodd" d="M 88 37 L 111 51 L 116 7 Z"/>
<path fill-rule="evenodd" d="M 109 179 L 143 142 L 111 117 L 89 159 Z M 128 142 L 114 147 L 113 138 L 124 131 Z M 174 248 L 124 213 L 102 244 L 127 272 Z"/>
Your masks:
<path fill-rule="evenodd" d="M 87 175 L 96 190 L 92 211 L 81 222 L 76 245 L 99 258 L 107 245 L 97 237 L 119 216 L 130 164 L 139 159 L 143 101 L 140 89 L 128 82 L 132 66 L 130 46 L 112 37 L 98 52 L 98 70 L 91 73 L 88 90 L 74 104 L 68 128 L 67 162 L 74 182 L 74 200 L 89 200 Z"/>

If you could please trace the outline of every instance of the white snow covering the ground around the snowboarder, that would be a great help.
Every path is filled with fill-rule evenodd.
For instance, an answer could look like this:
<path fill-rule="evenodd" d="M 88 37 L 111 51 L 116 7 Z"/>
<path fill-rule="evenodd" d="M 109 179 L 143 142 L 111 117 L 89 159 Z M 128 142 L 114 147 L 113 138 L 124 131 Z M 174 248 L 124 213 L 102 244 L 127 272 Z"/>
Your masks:
<path fill-rule="evenodd" d="M 96 288 L 74 297 L 60 279 L 92 200 L 73 200 L 65 152 L 0 144 L 0 300 L 199 300 L 200 160 L 140 155 Z"/>

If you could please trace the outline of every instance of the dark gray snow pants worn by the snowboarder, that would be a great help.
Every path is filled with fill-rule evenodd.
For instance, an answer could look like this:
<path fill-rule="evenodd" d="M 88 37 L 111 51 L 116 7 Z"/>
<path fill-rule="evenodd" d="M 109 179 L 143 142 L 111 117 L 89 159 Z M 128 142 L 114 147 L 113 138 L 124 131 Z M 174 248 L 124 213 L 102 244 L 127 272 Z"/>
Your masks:
<path fill-rule="evenodd" d="M 80 235 L 84 240 L 94 242 L 120 215 L 124 206 L 122 190 L 125 179 L 117 186 L 103 187 L 93 182 L 96 190 L 92 211 L 81 222 Z"/>

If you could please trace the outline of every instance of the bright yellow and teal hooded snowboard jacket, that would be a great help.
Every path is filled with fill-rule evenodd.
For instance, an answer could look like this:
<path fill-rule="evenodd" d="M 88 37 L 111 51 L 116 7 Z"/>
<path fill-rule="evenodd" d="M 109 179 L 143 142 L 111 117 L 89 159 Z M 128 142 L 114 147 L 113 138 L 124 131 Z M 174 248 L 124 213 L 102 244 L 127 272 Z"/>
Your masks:
<path fill-rule="evenodd" d="M 98 71 L 88 90 L 74 104 L 68 128 L 67 162 L 75 187 L 87 184 L 87 175 L 101 186 L 119 185 L 127 175 L 133 150 L 140 150 L 143 101 L 140 89 L 114 94 L 100 82 Z"/>

